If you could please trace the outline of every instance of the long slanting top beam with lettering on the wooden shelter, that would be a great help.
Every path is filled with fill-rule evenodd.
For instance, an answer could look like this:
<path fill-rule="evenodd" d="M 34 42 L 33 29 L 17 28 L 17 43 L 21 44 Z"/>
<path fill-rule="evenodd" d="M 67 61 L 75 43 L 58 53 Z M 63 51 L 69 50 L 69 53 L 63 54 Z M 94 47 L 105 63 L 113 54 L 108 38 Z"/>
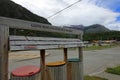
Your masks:
<path fill-rule="evenodd" d="M 68 33 L 68 34 L 82 34 L 80 30 L 74 30 L 69 28 L 62 28 L 57 26 L 51 26 L 47 24 L 24 21 L 6 17 L 0 17 L 0 24 L 9 26 L 10 28 L 20 28 L 20 29 L 29 29 L 37 31 L 47 31 L 47 32 L 58 32 L 58 33 Z"/>

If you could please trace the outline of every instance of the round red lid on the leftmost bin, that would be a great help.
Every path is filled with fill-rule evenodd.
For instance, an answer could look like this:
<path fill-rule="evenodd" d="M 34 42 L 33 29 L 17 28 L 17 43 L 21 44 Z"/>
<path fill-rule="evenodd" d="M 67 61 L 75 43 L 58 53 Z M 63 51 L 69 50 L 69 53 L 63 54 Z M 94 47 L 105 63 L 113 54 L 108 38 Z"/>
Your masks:
<path fill-rule="evenodd" d="M 39 67 L 28 65 L 28 66 L 22 66 L 16 68 L 15 70 L 12 71 L 12 75 L 17 77 L 25 77 L 25 76 L 32 76 L 38 72 L 40 72 Z"/>

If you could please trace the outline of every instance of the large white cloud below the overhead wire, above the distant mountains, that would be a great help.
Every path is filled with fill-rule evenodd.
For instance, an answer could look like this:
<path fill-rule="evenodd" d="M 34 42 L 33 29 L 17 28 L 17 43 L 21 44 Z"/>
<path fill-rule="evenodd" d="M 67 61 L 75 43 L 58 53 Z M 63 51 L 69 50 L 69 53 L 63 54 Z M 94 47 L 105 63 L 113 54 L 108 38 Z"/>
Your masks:
<path fill-rule="evenodd" d="M 72 25 L 72 24 L 108 24 L 119 16 L 119 13 L 98 7 L 89 3 L 78 3 L 64 12 L 50 18 L 49 20 L 55 25 Z"/>

